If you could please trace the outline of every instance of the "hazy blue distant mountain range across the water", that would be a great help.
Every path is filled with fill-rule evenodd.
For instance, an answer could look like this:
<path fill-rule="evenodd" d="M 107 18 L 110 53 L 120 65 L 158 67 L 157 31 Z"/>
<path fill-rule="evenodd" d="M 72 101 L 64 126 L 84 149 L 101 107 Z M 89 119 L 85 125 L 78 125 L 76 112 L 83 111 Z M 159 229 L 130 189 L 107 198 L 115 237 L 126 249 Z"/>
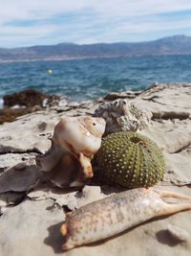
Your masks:
<path fill-rule="evenodd" d="M 191 55 L 191 36 L 174 35 L 154 41 L 96 44 L 60 43 L 22 48 L 0 48 L 0 61 L 70 58 L 116 58 L 154 55 Z"/>

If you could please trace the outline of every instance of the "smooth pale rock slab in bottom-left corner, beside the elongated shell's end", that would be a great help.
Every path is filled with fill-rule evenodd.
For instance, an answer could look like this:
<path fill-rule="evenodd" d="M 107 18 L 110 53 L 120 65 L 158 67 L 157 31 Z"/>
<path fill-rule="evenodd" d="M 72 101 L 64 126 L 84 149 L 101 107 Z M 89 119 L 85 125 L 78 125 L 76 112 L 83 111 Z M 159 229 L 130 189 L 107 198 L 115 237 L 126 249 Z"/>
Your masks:
<path fill-rule="evenodd" d="M 51 256 L 61 253 L 59 232 L 65 215 L 53 200 L 26 200 L 11 208 L 0 219 L 1 256 Z"/>

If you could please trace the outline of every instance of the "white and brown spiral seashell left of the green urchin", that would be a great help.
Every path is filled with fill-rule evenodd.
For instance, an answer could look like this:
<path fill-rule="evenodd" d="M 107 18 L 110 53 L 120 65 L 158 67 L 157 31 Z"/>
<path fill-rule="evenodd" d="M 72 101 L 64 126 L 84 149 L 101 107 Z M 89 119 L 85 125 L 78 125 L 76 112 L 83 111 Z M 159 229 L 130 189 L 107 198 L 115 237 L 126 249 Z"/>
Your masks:
<path fill-rule="evenodd" d="M 53 131 L 49 151 L 36 156 L 36 164 L 54 185 L 76 187 L 92 177 L 91 159 L 101 145 L 102 118 L 63 116 Z"/>

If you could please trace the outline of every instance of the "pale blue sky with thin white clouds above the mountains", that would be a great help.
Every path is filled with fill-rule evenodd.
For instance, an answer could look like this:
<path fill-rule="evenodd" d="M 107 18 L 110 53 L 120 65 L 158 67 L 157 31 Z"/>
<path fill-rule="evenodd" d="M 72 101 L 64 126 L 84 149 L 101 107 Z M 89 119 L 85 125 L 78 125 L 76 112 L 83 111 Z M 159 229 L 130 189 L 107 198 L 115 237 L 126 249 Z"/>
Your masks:
<path fill-rule="evenodd" d="M 191 35 L 191 0 L 0 0 L 0 47 Z"/>

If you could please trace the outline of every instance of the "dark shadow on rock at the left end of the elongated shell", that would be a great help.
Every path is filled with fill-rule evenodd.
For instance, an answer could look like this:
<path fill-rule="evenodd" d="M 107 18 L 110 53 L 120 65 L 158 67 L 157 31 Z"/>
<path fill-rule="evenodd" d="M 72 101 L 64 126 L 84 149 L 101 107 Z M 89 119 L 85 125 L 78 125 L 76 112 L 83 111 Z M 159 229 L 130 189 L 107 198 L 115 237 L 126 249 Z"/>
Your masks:
<path fill-rule="evenodd" d="M 59 222 L 48 227 L 49 236 L 44 240 L 44 244 L 52 246 L 54 253 L 57 254 L 63 253 L 62 244 L 64 244 L 64 238 L 60 233 L 62 223 L 63 222 Z"/>

